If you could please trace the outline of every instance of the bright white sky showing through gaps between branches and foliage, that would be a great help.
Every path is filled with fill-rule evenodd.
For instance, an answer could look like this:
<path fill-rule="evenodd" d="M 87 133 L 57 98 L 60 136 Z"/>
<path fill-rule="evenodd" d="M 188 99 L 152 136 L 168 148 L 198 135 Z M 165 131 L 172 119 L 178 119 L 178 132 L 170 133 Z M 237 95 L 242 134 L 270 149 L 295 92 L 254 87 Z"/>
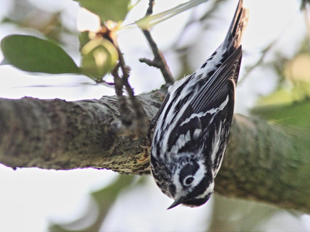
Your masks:
<path fill-rule="evenodd" d="M 303 15 L 299 12 L 299 0 L 244 0 L 250 11 L 248 28 L 244 37 L 243 48 L 245 51 L 243 64 L 248 65 L 258 58 L 257 51 L 280 37 L 275 49 L 281 48 L 281 53 L 287 58 L 292 58 L 296 47 L 305 32 Z M 66 19 L 71 26 L 75 25 L 74 18 L 78 14 L 78 4 L 71 0 L 31 0 L 40 7 L 49 11 L 56 11 L 61 6 L 66 9 Z M 155 13 L 174 7 L 185 0 L 156 0 Z M 237 0 L 231 0 L 227 5 L 227 15 L 219 15 L 214 20 L 217 30 L 214 35 L 209 35 L 208 41 L 199 32 L 199 28 L 192 28 L 192 36 L 201 36 L 200 46 L 190 60 L 194 69 L 198 68 L 203 60 L 211 54 L 222 41 L 230 19 L 233 15 Z M 140 6 L 129 16 L 128 23 L 143 16 L 147 7 L 147 0 L 142 0 Z M 10 6 L 10 0 L 0 0 L 0 5 Z M 207 3 L 208 4 L 208 3 Z M 199 7 L 202 7 L 199 6 Z M 142 10 L 141 10 L 142 9 Z M 199 14 L 198 9 L 198 14 Z M 6 10 L 0 9 L 0 18 Z M 175 42 L 180 28 L 178 25 L 186 22 L 190 13 L 186 12 L 157 25 L 153 36 L 158 46 L 165 52 L 171 43 Z M 10 33 L 20 33 L 19 29 L 7 25 L 0 25 L 0 39 Z M 282 34 L 281 34 L 282 33 Z M 163 36 L 164 35 L 164 36 Z M 186 38 L 191 40 L 192 38 Z M 184 42 L 186 43 L 186 41 Z M 132 68 L 130 82 L 135 87 L 136 93 L 148 91 L 163 84 L 160 73 L 138 61 L 141 57 L 151 58 L 151 54 L 138 29 L 130 29 L 120 33 L 120 45 L 125 58 Z M 173 74 L 178 74 L 175 54 L 166 52 L 168 63 Z M 73 54 L 75 55 L 75 54 Z M 273 59 L 271 53 L 267 59 Z M 2 56 L 0 54 L 0 59 Z M 78 59 L 76 58 L 78 62 Z M 246 113 L 246 109 L 253 105 L 257 95 L 272 91 L 275 82 L 270 80 L 274 74 L 270 70 L 257 69 L 242 85 L 238 87 L 236 112 Z M 39 76 L 22 73 L 9 66 L 0 66 L 0 97 L 21 98 L 31 96 L 38 98 L 60 98 L 65 100 L 93 99 L 102 95 L 112 95 L 113 89 L 103 86 L 81 85 L 89 82 L 82 76 Z M 14 77 L 14 78 L 13 78 Z M 139 78 L 138 78 L 139 77 Z M 143 78 L 141 78 L 143 77 Z M 241 73 L 242 77 L 242 73 Z M 152 83 L 152 85 L 150 85 Z M 58 87 L 31 87 L 53 85 Z M 74 86 L 74 87 L 72 87 Z M 254 94 L 253 94 L 254 93 Z M 18 169 L 0 165 L 0 232 L 17 231 L 44 231 L 47 228 L 48 218 L 63 218 L 77 216 L 86 206 L 88 192 L 108 184 L 117 174 L 106 170 L 75 170 L 75 171 L 47 171 L 37 169 Z M 137 200 L 139 198 L 139 200 Z M 131 207 L 135 203 L 135 207 Z M 140 203 L 140 205 L 136 205 Z M 164 196 L 155 183 L 150 179 L 148 185 L 139 190 L 133 190 L 119 200 L 108 216 L 104 231 L 191 231 L 203 230 L 201 218 L 208 218 L 212 207 L 212 200 L 202 207 L 191 209 L 178 207 L 166 211 L 171 200 Z M 126 217 L 124 208 L 136 208 L 132 218 Z M 150 214 L 150 212 L 154 212 Z M 115 217 L 117 214 L 118 217 Z M 73 215 L 73 216 L 72 216 Z M 154 221 L 154 217 L 156 221 Z M 283 214 L 279 217 L 283 217 Z M 279 217 L 276 219 L 278 220 Z M 182 218 L 180 220 L 179 218 Z M 276 231 L 310 231 L 307 224 L 310 219 L 304 216 L 301 220 L 285 215 L 290 223 L 269 223 L 269 229 Z M 287 219 L 289 218 L 289 219 Z M 293 218 L 293 219 L 292 219 Z M 276 219 L 274 221 L 276 221 Z M 170 223 L 165 223 L 170 221 Z M 268 224 L 268 223 L 267 223 Z M 160 227 L 159 225 L 164 225 Z M 139 227 L 138 227 L 139 226 Z"/>

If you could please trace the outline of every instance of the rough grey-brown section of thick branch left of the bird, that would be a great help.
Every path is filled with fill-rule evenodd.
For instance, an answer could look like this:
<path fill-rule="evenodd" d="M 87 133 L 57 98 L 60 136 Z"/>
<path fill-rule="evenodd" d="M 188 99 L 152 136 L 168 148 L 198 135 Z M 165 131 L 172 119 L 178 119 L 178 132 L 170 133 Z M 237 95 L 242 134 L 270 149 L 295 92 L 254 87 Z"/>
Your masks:
<path fill-rule="evenodd" d="M 139 100 L 152 118 L 160 102 L 151 93 Z M 114 96 L 77 102 L 0 99 L 0 162 L 12 168 L 148 172 L 148 162 L 137 161 L 143 156 L 144 141 L 114 133 L 119 116 Z"/>

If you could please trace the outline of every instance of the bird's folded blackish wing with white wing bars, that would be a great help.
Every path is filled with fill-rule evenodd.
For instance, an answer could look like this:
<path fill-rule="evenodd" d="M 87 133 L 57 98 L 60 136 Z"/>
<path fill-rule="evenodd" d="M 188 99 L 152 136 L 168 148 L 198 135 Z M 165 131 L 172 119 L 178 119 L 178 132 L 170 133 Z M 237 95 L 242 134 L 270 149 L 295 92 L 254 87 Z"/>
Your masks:
<path fill-rule="evenodd" d="M 212 121 L 216 120 L 215 116 L 218 114 L 224 114 L 220 118 L 227 119 L 227 122 L 232 120 L 234 87 L 239 73 L 241 56 L 240 46 L 201 87 L 199 93 L 195 94 L 197 97 L 186 107 L 182 116 L 174 124 L 168 140 L 169 149 L 178 143 L 180 135 L 186 136 L 187 133 L 187 137 L 191 141 L 188 140 L 186 143 L 186 140 L 182 140 L 185 142 L 184 145 L 178 146 L 184 150 L 196 149 L 193 145 L 189 146 L 192 144 L 192 140 L 202 138 L 199 136 L 200 133 L 207 130 Z M 210 136 L 214 132 L 209 131 Z"/>

